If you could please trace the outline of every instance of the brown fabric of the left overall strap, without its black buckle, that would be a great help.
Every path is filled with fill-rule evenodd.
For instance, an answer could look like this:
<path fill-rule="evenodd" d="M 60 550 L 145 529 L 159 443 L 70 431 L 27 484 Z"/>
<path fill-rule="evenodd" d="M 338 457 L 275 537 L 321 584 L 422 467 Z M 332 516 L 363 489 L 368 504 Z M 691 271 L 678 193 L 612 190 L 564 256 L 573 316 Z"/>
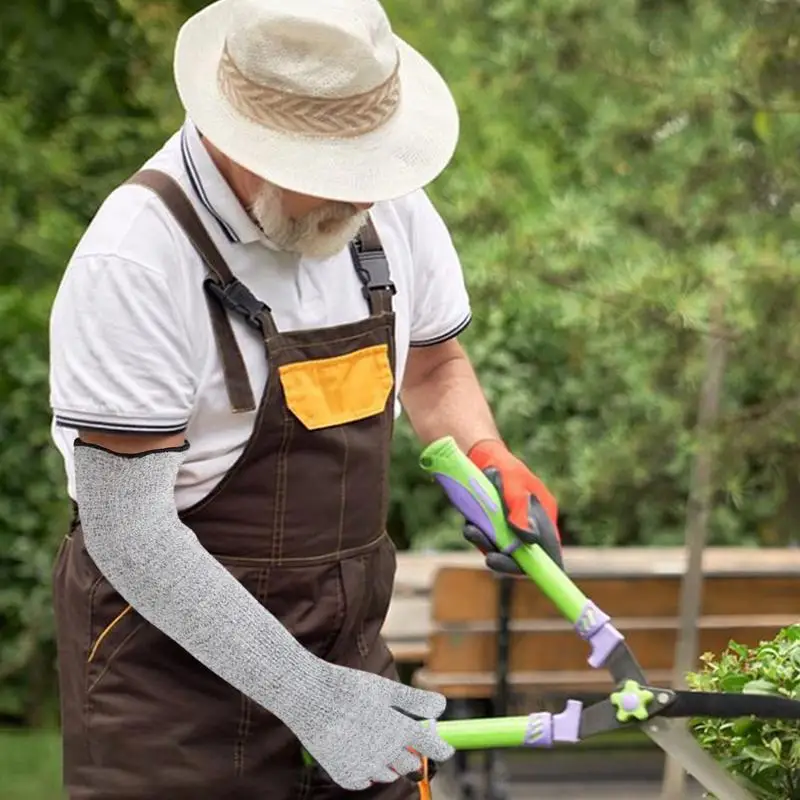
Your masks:
<path fill-rule="evenodd" d="M 214 286 L 223 288 L 227 285 L 241 285 L 238 284 L 222 254 L 208 235 L 208 231 L 194 210 L 191 201 L 175 180 L 158 170 L 146 169 L 137 172 L 126 183 L 144 186 L 161 198 L 211 271 Z M 209 284 L 206 284 L 207 289 L 208 287 Z M 234 413 L 254 411 L 256 404 L 253 390 L 247 375 L 247 367 L 233 334 L 231 321 L 218 296 L 214 297 L 212 293 L 206 291 L 206 299 L 211 314 L 214 337 L 217 340 L 222 359 L 222 371 L 231 408 Z M 268 312 L 269 309 L 267 309 Z"/>

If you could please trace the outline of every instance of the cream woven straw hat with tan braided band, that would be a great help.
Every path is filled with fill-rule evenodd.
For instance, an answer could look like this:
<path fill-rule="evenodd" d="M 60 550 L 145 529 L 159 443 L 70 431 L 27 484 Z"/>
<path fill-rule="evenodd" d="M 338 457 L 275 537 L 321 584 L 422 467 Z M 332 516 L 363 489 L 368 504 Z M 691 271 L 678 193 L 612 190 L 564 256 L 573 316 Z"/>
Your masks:
<path fill-rule="evenodd" d="M 278 186 L 349 202 L 447 166 L 458 111 L 378 0 L 218 0 L 181 28 L 175 83 L 223 153 Z"/>

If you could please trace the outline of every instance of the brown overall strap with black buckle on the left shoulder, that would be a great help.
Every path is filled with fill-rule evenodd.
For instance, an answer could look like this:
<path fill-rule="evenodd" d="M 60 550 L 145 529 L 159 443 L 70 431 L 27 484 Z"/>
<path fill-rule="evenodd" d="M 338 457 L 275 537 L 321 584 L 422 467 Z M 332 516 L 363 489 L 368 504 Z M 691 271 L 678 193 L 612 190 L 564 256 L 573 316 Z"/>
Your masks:
<path fill-rule="evenodd" d="M 178 183 L 158 170 L 140 170 L 126 183 L 144 186 L 155 192 L 183 229 L 211 276 L 204 282 L 214 338 L 217 340 L 228 399 L 234 412 L 254 411 L 253 390 L 242 353 L 233 334 L 225 307 L 241 314 L 249 324 L 269 317 L 269 308 L 256 300 L 230 271 L 219 249 L 208 235 L 191 201 Z M 274 323 L 272 323 L 274 326 Z M 261 329 L 261 328 L 259 328 Z"/>

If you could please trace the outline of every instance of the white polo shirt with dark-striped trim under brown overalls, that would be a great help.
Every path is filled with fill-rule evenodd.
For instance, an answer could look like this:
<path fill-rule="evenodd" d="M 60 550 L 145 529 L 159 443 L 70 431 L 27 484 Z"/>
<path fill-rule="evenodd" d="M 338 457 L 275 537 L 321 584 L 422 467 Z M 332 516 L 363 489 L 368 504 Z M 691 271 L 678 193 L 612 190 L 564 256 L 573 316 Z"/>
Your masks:
<path fill-rule="evenodd" d="M 279 330 L 339 325 L 369 313 L 350 253 L 320 260 L 279 251 L 250 219 L 187 121 L 145 165 L 177 179 L 231 271 L 272 309 Z M 470 322 L 447 228 L 424 191 L 373 207 L 397 288 L 396 383 L 410 347 L 446 341 Z M 239 456 L 255 412 L 233 414 L 203 280 L 207 270 L 161 201 L 122 186 L 79 242 L 50 322 L 52 435 L 74 493 L 77 428 L 185 431 L 176 502 L 210 492 Z M 231 315 L 256 397 L 268 375 L 260 337 Z M 396 403 L 395 414 L 400 413 Z"/>

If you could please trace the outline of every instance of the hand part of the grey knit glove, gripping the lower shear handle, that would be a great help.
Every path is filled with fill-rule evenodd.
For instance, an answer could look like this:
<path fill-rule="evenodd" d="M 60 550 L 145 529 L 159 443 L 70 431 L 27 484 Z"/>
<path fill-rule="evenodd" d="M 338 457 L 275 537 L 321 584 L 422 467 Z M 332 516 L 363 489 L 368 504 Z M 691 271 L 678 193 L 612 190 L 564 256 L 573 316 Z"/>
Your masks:
<path fill-rule="evenodd" d="M 320 681 L 307 684 L 299 703 L 309 713 L 296 708 L 290 727 L 342 788 L 392 783 L 419 772 L 420 756 L 446 761 L 455 752 L 419 722 L 442 714 L 444 696 L 327 662 L 317 669 Z"/>

